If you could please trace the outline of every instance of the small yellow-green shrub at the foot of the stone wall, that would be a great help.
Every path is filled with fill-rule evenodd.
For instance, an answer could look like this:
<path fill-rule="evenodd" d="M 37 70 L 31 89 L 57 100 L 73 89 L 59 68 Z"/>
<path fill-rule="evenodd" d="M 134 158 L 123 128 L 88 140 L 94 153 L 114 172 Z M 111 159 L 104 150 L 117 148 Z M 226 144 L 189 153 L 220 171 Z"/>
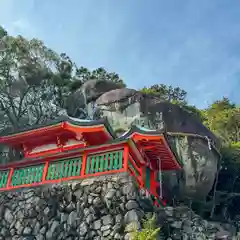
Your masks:
<path fill-rule="evenodd" d="M 143 220 L 143 229 L 139 231 L 137 227 L 133 227 L 131 235 L 132 240 L 156 240 L 160 232 L 160 228 L 156 225 L 156 216 L 147 217 Z"/>

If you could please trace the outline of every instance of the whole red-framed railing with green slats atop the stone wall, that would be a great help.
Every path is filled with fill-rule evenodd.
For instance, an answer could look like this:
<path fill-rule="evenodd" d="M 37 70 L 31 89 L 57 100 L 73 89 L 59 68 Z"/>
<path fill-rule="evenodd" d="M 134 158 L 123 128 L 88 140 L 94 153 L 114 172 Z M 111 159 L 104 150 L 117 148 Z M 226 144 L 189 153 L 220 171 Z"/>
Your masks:
<path fill-rule="evenodd" d="M 12 163 L 0 168 L 0 190 L 34 187 L 105 174 L 129 172 L 143 187 L 142 167 L 129 154 L 129 147 L 75 153 L 64 159 L 38 159 Z"/>

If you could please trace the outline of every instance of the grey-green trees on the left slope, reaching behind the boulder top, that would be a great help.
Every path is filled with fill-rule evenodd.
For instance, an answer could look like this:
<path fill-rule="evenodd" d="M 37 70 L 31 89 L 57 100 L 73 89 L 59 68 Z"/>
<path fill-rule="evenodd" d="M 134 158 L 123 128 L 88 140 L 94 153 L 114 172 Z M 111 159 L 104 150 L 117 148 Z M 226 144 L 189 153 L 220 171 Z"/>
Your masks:
<path fill-rule="evenodd" d="M 0 131 L 54 119 L 69 94 L 88 80 L 124 86 L 114 72 L 78 68 L 65 53 L 57 54 L 38 39 L 10 36 L 2 27 L 0 45 Z"/>

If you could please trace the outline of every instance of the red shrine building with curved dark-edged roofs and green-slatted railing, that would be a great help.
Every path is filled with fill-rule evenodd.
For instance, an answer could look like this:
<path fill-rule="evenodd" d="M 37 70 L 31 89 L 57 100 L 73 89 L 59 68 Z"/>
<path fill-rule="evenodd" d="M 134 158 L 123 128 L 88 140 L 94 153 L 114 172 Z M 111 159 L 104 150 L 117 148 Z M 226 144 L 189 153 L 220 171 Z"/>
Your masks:
<path fill-rule="evenodd" d="M 133 126 L 116 137 L 106 119 L 62 117 L 1 136 L 0 144 L 23 153 L 0 165 L 0 191 L 128 172 L 162 204 L 161 173 L 181 169 L 164 132 Z"/>

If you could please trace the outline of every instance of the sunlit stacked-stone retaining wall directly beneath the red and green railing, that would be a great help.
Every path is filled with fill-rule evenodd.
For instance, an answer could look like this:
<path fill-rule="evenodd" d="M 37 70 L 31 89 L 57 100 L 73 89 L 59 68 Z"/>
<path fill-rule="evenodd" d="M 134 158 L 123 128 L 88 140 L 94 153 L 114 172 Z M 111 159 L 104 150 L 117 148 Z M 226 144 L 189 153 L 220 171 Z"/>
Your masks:
<path fill-rule="evenodd" d="M 128 238 L 125 225 L 151 207 L 138 193 L 126 174 L 1 193 L 0 239 Z"/>

